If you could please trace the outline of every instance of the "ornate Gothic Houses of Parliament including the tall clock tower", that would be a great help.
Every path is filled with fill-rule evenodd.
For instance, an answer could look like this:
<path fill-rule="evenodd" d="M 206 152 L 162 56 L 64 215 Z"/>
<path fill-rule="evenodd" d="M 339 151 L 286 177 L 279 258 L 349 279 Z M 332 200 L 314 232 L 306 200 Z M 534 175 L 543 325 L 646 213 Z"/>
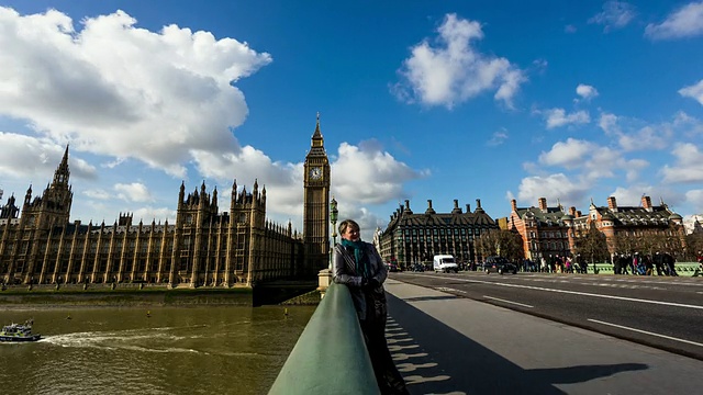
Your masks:
<path fill-rule="evenodd" d="M 29 188 L 0 206 L 3 284 L 153 283 L 175 286 L 254 286 L 279 279 L 312 279 L 330 252 L 330 162 L 320 117 L 304 162 L 302 234 L 266 217 L 266 188 L 232 185 L 228 212 L 204 182 L 186 193 L 176 222 L 138 224 L 119 214 L 112 225 L 70 222 L 68 147 L 41 195 Z"/>

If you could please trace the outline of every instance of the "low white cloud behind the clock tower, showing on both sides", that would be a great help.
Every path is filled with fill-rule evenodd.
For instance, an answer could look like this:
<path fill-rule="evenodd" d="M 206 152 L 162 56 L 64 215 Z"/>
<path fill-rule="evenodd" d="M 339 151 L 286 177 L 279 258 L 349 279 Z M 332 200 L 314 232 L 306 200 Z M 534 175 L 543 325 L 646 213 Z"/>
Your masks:
<path fill-rule="evenodd" d="M 293 227 L 301 229 L 298 218 L 303 215 L 302 162 L 274 162 L 264 153 L 249 146 L 243 147 L 239 155 L 193 151 L 193 156 L 200 173 L 225 185 L 219 189 L 221 208 L 228 206 L 225 199 L 230 195 L 232 177 L 236 178 L 239 189 L 244 185 L 250 191 L 254 179 L 243 177 L 257 174 L 259 189 L 266 188 L 267 216 L 279 223 L 292 219 Z M 404 183 L 428 174 L 426 170 L 416 171 L 398 161 L 375 140 L 362 142 L 358 146 L 343 143 L 336 157 L 331 157 L 331 166 L 332 194 L 339 203 L 341 213 L 342 207 L 361 210 L 362 204 L 397 201 L 406 196 Z M 369 219 L 366 225 L 370 223 Z M 380 224 L 378 221 L 376 223 Z"/>

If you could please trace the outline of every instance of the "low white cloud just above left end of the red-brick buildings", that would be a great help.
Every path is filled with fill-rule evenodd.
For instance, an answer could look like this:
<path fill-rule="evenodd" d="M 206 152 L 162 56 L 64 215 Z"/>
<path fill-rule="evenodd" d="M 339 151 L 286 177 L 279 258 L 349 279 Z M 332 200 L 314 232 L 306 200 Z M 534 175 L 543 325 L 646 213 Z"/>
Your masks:
<path fill-rule="evenodd" d="M 589 188 L 590 185 L 580 180 L 572 180 L 563 173 L 527 177 L 520 183 L 517 198 L 522 202 L 531 203 L 537 202 L 539 198 L 547 198 L 549 201 L 559 199 L 562 204 L 567 204 L 581 201 Z"/>

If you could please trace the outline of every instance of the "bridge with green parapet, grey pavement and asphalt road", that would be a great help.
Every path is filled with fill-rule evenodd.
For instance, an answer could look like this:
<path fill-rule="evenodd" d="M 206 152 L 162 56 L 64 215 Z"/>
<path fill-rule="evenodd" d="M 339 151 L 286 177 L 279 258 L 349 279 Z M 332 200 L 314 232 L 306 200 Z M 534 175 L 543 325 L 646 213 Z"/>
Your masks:
<path fill-rule="evenodd" d="M 389 349 L 411 394 L 700 393 L 703 278 L 677 269 L 391 273 Z M 348 291 L 333 284 L 269 394 L 376 393 Z"/>

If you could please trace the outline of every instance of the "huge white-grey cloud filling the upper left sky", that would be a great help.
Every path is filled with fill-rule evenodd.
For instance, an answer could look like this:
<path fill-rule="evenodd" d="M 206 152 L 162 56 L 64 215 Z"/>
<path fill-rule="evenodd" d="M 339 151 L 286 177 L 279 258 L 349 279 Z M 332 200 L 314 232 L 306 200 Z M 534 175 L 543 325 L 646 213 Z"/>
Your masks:
<path fill-rule="evenodd" d="M 0 8 L 0 115 L 77 151 L 135 158 L 183 177 L 192 150 L 237 151 L 247 115 L 231 83 L 269 64 L 246 43 L 176 25 L 155 33 L 123 11 L 81 21 Z"/>

